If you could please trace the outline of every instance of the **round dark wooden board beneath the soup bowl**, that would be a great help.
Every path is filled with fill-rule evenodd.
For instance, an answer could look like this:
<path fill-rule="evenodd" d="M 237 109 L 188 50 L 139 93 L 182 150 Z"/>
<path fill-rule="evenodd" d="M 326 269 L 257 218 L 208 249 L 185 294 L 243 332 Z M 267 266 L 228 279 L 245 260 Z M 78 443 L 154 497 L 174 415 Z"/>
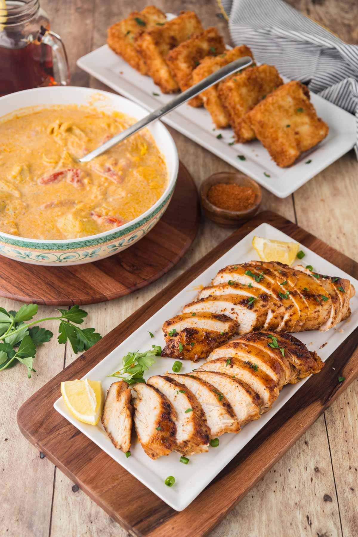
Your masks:
<path fill-rule="evenodd" d="M 50 306 L 116 299 L 170 271 L 194 241 L 200 222 L 193 178 L 179 164 L 177 186 L 162 219 L 140 241 L 101 261 L 64 267 L 20 263 L 0 256 L 0 296 Z"/>

